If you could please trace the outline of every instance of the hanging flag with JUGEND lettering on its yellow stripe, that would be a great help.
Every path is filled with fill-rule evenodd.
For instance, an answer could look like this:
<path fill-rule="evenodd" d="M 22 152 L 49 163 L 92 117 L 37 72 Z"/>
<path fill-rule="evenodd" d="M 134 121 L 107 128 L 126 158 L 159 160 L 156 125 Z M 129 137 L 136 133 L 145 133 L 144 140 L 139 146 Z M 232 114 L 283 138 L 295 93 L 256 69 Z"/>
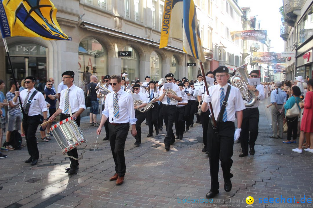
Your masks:
<path fill-rule="evenodd" d="M 182 39 L 185 53 L 206 61 L 193 0 L 165 0 L 159 48 L 167 46 L 169 37 Z"/>

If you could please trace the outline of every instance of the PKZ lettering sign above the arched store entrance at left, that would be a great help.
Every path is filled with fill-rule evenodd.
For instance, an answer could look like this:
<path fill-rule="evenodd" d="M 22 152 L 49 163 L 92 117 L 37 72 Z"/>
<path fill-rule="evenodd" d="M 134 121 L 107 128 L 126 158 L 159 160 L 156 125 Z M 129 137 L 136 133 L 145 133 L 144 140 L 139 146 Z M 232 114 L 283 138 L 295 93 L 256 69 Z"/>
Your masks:
<path fill-rule="evenodd" d="M 46 48 L 34 43 L 9 46 L 10 55 L 45 56 Z"/>

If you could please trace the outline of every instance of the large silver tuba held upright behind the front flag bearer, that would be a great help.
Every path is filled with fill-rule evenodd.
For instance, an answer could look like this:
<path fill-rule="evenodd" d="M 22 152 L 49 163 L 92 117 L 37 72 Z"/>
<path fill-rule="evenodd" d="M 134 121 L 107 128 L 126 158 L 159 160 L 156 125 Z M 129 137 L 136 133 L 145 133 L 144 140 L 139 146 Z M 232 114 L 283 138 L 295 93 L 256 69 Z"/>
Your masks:
<path fill-rule="evenodd" d="M 234 69 L 239 75 L 234 75 L 230 78 L 230 83 L 239 89 L 242 99 L 244 100 L 244 105 L 246 107 L 253 106 L 257 101 L 257 97 L 255 96 L 253 91 L 250 91 L 247 88 L 249 84 L 249 74 L 247 70 L 247 65 L 244 64 Z"/>

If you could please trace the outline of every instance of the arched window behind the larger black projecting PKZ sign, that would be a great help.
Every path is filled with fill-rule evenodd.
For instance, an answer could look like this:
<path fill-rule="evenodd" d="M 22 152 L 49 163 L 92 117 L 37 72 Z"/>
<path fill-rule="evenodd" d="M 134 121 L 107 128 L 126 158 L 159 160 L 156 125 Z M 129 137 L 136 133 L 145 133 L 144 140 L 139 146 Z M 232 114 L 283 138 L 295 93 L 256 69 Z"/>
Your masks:
<path fill-rule="evenodd" d="M 125 46 L 123 51 L 131 51 L 131 56 L 129 57 L 121 57 L 122 59 L 122 70 L 121 74 L 128 74 L 127 78 L 131 80 L 135 80 L 139 78 L 139 55 L 135 49 L 131 46 Z M 137 58 L 138 57 L 138 58 Z"/>

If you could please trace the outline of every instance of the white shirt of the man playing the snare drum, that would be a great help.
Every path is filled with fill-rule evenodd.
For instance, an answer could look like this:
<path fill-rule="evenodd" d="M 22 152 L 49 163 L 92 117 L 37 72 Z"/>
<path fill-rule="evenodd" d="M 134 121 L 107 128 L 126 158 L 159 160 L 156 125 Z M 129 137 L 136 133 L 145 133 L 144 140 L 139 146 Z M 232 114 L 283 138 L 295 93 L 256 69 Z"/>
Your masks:
<path fill-rule="evenodd" d="M 65 85 L 66 86 L 66 85 Z M 84 90 L 77 87 L 76 85 L 72 85 L 69 91 L 69 106 L 71 107 L 71 113 L 77 112 L 80 108 L 86 109 L 85 105 L 85 94 Z M 62 113 L 64 114 L 64 101 L 65 101 L 65 96 L 67 93 L 67 86 L 66 89 L 63 89 L 61 91 L 61 101 L 59 108 L 62 109 Z"/>

